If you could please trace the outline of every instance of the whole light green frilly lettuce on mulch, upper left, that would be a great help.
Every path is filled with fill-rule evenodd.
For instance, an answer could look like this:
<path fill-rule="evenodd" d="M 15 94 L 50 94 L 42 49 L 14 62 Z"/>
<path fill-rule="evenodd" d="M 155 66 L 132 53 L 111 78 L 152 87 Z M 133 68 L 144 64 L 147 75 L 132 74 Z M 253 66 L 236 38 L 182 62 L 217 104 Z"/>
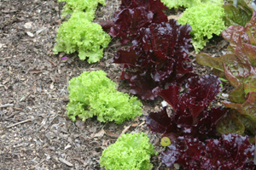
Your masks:
<path fill-rule="evenodd" d="M 77 12 L 61 24 L 55 45 L 54 54 L 79 52 L 79 58 L 88 63 L 102 59 L 103 48 L 108 46 L 110 36 L 102 30 L 102 26 L 86 19 L 87 13 Z"/>

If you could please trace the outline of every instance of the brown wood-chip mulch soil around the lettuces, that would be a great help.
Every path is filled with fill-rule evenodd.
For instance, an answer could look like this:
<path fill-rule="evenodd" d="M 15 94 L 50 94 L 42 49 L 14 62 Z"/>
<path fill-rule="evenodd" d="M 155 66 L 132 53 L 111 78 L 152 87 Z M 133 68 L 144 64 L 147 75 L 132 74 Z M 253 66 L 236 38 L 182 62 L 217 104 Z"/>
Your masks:
<path fill-rule="evenodd" d="M 95 22 L 111 20 L 118 11 L 119 0 L 107 0 L 96 11 Z M 144 123 L 149 111 L 158 111 L 163 99 L 143 100 L 143 116 L 116 125 L 96 118 L 72 122 L 66 116 L 68 82 L 82 71 L 103 70 L 118 84 L 118 90 L 130 93 L 127 82 L 119 80 L 119 65 L 111 64 L 121 45 L 113 38 L 100 62 L 88 64 L 77 54 L 53 55 L 64 3 L 57 0 L 0 0 L 0 169 L 103 169 L 102 150 L 126 133 L 148 133 L 156 151 L 160 136 L 151 133 Z M 171 12 L 172 13 L 172 12 Z M 228 42 L 214 37 L 202 51 L 221 56 Z M 67 56 L 67 59 L 61 57 Z M 208 67 L 190 57 L 195 72 L 212 73 Z M 224 94 L 232 88 L 224 83 Z M 221 105 L 218 97 L 213 105 Z M 153 156 L 154 169 L 167 169 L 160 156 Z"/>

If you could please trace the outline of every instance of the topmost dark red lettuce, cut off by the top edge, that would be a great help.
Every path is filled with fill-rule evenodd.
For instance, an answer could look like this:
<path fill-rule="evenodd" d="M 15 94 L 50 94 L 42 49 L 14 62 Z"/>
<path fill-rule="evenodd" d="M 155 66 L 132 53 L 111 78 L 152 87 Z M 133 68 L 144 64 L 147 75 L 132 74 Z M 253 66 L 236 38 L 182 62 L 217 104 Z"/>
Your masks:
<path fill-rule="evenodd" d="M 122 44 L 133 40 L 143 26 L 167 22 L 162 11 L 167 8 L 160 0 L 122 0 L 119 9 L 114 13 L 113 21 L 104 21 L 100 25 L 112 37 L 120 37 Z"/>

